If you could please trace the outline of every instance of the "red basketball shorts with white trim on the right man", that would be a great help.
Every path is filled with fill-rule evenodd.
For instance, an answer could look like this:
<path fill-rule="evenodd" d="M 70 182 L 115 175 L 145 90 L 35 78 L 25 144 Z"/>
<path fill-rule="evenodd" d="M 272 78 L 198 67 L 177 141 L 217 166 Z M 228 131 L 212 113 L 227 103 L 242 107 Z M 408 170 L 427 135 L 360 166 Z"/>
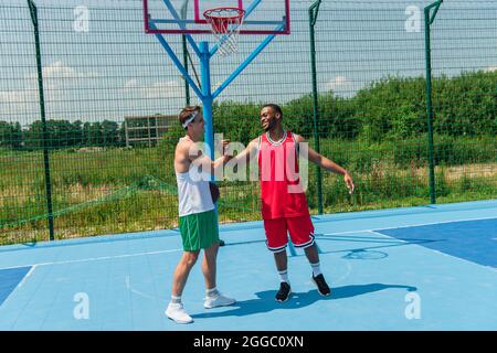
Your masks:
<path fill-rule="evenodd" d="M 314 245 L 314 225 L 309 215 L 264 220 L 267 248 L 273 253 L 283 252 L 288 244 L 288 234 L 292 243 L 297 248 L 306 248 Z"/>

